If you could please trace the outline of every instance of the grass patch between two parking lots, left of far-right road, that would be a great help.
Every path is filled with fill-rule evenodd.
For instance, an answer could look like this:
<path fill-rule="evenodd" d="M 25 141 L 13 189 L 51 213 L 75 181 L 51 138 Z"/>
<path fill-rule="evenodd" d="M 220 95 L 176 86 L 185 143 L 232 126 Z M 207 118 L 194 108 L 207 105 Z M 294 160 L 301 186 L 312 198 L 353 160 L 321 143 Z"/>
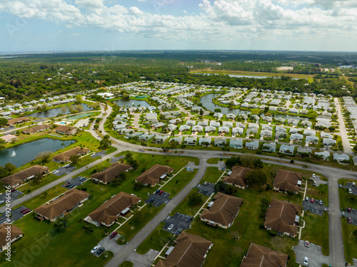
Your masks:
<path fill-rule="evenodd" d="M 303 220 L 305 228 L 302 230 L 301 239 L 321 246 L 323 255 L 328 256 L 328 213 L 324 212 L 323 216 L 319 216 L 306 212 Z"/>

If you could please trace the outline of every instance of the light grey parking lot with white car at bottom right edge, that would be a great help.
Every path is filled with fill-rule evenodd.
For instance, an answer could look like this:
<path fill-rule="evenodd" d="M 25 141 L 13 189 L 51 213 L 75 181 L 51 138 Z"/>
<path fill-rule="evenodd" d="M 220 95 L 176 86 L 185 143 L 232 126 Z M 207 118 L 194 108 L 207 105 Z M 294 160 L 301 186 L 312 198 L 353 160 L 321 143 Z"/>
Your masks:
<path fill-rule="evenodd" d="M 304 245 L 303 240 L 298 241 L 298 245 L 293 247 L 293 251 L 296 254 L 296 262 L 303 263 L 303 258 L 308 258 L 309 267 L 321 267 L 323 263 L 329 265 L 330 260 L 328 256 L 323 256 L 321 246 L 315 244 L 309 244 L 309 247 Z"/>

